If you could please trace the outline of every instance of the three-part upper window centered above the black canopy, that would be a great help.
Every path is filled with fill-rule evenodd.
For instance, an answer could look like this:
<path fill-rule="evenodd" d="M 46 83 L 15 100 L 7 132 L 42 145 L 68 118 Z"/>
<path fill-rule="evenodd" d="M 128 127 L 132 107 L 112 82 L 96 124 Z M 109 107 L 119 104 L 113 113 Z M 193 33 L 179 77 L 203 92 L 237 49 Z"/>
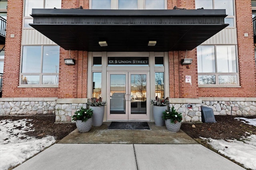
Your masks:
<path fill-rule="evenodd" d="M 167 0 L 90 0 L 90 9 L 164 10 L 167 9 Z"/>

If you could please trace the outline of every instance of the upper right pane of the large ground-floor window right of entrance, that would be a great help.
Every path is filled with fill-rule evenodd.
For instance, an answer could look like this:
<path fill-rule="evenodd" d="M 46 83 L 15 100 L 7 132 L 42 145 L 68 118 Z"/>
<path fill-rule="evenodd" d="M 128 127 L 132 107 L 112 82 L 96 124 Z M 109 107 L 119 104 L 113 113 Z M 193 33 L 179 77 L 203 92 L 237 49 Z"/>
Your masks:
<path fill-rule="evenodd" d="M 216 46 L 216 59 L 218 72 L 237 72 L 234 45 Z"/>

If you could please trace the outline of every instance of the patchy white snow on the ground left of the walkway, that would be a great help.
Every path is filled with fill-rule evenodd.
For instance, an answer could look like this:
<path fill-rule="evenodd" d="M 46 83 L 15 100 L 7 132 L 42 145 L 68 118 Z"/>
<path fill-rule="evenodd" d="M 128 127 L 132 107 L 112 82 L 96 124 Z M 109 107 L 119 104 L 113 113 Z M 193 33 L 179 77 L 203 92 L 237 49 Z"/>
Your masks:
<path fill-rule="evenodd" d="M 0 170 L 7 170 L 55 143 L 55 137 L 42 139 L 24 135 L 33 131 L 29 119 L 0 121 Z"/>

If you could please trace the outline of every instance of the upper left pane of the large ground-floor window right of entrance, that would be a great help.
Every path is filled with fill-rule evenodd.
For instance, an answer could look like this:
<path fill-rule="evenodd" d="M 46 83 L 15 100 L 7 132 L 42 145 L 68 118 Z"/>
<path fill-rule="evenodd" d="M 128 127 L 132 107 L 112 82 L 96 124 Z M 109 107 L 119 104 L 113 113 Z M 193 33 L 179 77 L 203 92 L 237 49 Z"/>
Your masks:
<path fill-rule="evenodd" d="M 214 46 L 197 47 L 198 72 L 216 72 Z"/>

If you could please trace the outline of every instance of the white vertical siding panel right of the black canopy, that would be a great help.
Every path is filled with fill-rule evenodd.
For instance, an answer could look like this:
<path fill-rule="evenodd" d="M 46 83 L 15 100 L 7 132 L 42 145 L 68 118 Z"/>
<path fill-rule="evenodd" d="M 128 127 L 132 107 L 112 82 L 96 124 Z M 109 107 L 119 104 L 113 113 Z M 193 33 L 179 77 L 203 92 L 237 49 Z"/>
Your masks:
<path fill-rule="evenodd" d="M 202 45 L 210 44 L 237 44 L 236 28 L 222 29 L 222 31 L 202 43 Z"/>

